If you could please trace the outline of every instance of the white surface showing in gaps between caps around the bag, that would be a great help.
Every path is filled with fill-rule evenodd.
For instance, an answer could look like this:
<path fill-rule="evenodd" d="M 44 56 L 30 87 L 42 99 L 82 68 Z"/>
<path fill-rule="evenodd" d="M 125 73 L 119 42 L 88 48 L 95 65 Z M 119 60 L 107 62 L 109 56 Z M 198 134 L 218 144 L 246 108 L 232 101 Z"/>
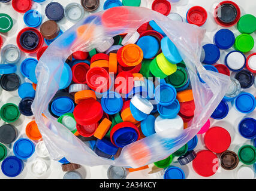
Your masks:
<path fill-rule="evenodd" d="M 31 9 L 38 10 L 43 15 L 43 22 L 48 20 L 46 18 L 46 16 L 44 15 L 44 8 L 46 7 L 47 4 L 49 4 L 49 2 L 52 2 L 52 1 L 46 0 L 45 2 L 42 2 L 42 3 L 32 2 L 33 5 L 32 5 Z M 77 2 L 80 4 L 80 0 L 72 0 L 72 1 L 71 0 L 55 0 L 55 2 L 59 2 L 60 4 L 63 5 L 63 7 L 65 7 L 70 2 Z M 141 0 L 141 7 L 150 8 L 152 2 L 153 2 L 153 0 Z M 177 4 L 172 4 L 171 12 L 179 13 L 183 17 L 183 20 L 185 20 L 186 11 L 188 11 L 188 9 L 190 7 L 192 7 L 194 5 L 199 5 L 201 7 L 204 7 L 208 11 L 208 18 L 207 18 L 206 23 L 202 26 L 207 29 L 206 37 L 204 39 L 203 44 L 213 43 L 213 41 L 212 41 L 213 36 L 219 29 L 222 28 L 221 26 L 218 26 L 215 23 L 213 16 L 212 16 L 213 8 L 216 7 L 216 4 L 218 4 L 218 2 L 221 2 L 221 1 L 180 0 L 180 2 L 178 2 Z M 256 2 L 255 1 L 234 0 L 234 2 L 236 2 L 236 4 L 239 5 L 240 10 L 241 10 L 241 16 L 243 16 L 243 14 L 254 14 L 254 16 L 256 15 L 256 11 L 255 11 L 256 10 Z M 100 8 L 98 8 L 97 11 L 103 10 L 103 3 L 104 3 L 104 0 L 101 0 Z M 23 14 L 20 14 L 20 13 L 17 13 L 16 11 L 14 11 L 13 7 L 11 6 L 11 2 L 9 2 L 8 4 L 0 4 L 0 13 L 7 13 L 8 15 L 10 15 L 13 18 L 13 21 L 14 21 L 13 28 L 8 33 L 1 33 L 1 36 L 4 39 L 3 47 L 7 44 L 15 44 L 16 45 L 17 33 L 19 33 L 19 31 L 21 29 L 26 27 L 26 25 L 23 21 Z M 87 13 L 87 14 L 89 14 L 89 13 Z M 86 14 L 85 14 L 85 16 L 86 16 Z M 67 30 L 69 27 L 71 27 L 74 23 L 71 23 L 70 21 L 68 21 L 67 19 L 64 18 L 61 21 L 59 21 L 58 24 L 59 24 L 61 30 L 65 32 L 65 30 Z M 235 36 L 238 36 L 240 34 L 239 31 L 236 29 L 236 26 L 230 27 L 228 29 L 232 30 L 234 32 Z M 253 33 L 252 36 L 254 37 L 254 40 L 256 42 L 256 34 Z M 218 63 L 224 64 L 225 55 L 232 50 L 233 50 L 233 48 L 230 48 L 227 51 L 221 51 L 221 58 L 218 61 Z M 255 51 L 256 51 L 256 48 L 254 47 L 254 49 L 250 53 L 246 54 L 246 57 Z M 17 68 L 18 68 L 17 74 L 22 79 L 22 82 L 28 81 L 28 79 L 24 79 L 24 77 L 21 75 L 19 66 L 20 66 L 20 63 L 25 58 L 28 58 L 28 57 L 36 58 L 36 54 L 22 53 L 22 58 L 20 59 L 19 63 L 17 63 Z M 234 73 L 231 74 L 231 76 L 233 76 L 233 75 L 234 75 Z M 252 86 L 249 89 L 243 90 L 243 91 L 252 93 L 252 94 L 254 94 L 254 96 L 256 96 L 256 85 Z M 0 90 L 0 93 L 1 93 L 0 94 L 0 107 L 3 104 L 9 103 L 9 102 L 19 104 L 20 97 L 18 96 L 17 91 L 8 93 L 7 91 Z M 219 121 L 210 119 L 210 122 L 211 122 L 211 127 L 220 126 L 220 127 L 225 128 L 226 130 L 228 130 L 228 132 L 231 135 L 231 146 L 230 146 L 229 150 L 234 150 L 237 153 L 237 150 L 239 149 L 240 146 L 242 146 L 245 143 L 248 143 L 248 144 L 252 144 L 252 143 L 250 142 L 250 140 L 246 140 L 245 138 L 243 138 L 238 133 L 238 130 L 237 130 L 237 124 L 245 115 L 243 113 L 237 112 L 237 110 L 234 109 L 234 107 L 233 107 L 233 103 L 229 103 L 229 106 L 230 106 L 230 112 L 228 113 L 226 118 L 219 120 Z M 252 112 L 246 116 L 252 116 L 253 118 L 256 118 L 256 110 L 254 110 L 254 112 Z M 18 121 L 14 122 L 12 124 L 15 125 L 19 129 L 20 136 L 26 136 L 25 135 L 25 127 L 31 120 L 32 120 L 32 118 L 27 118 L 23 115 L 20 115 L 20 118 L 18 119 Z M 2 119 L 1 119 L 0 125 L 2 125 L 2 124 L 4 124 L 4 121 L 2 121 Z M 198 151 L 200 149 L 205 149 L 205 147 L 203 146 L 202 140 L 203 140 L 202 135 L 198 135 L 198 144 L 197 144 L 197 147 L 195 148 L 195 151 Z M 9 145 L 8 147 L 11 148 L 11 145 Z M 9 149 L 9 155 L 13 155 L 11 149 Z M 22 174 L 20 174 L 19 176 L 15 177 L 15 178 L 37 178 L 34 175 L 32 175 L 32 173 L 30 171 L 31 161 L 36 157 L 38 157 L 38 156 L 36 154 L 34 154 L 32 156 L 32 158 L 29 158 L 27 161 L 24 161 L 25 168 L 24 168 Z M 47 171 L 47 174 L 44 175 L 44 177 L 40 177 L 40 178 L 62 178 L 63 175 L 65 174 L 65 172 L 62 172 L 61 164 L 59 162 L 53 161 L 49 158 L 46 158 L 46 161 L 47 161 L 47 164 L 49 164 L 49 171 Z M 182 168 L 182 170 L 185 172 L 186 178 L 205 178 L 205 177 L 201 177 L 200 175 L 197 175 L 194 172 L 194 170 L 192 169 L 191 163 L 181 167 L 179 165 L 179 163 L 177 162 L 177 158 L 174 158 L 171 165 Z M 242 165 L 241 162 L 239 163 L 239 167 L 240 167 L 240 165 Z M 152 166 L 153 165 L 149 165 L 149 167 L 152 167 Z M 109 166 L 107 166 L 107 165 L 97 166 L 97 167 L 82 166 L 82 168 L 80 168 L 77 171 L 79 171 L 82 174 L 83 178 L 107 178 L 107 168 L 108 167 Z M 252 166 L 250 166 L 250 167 L 252 168 Z M 233 171 L 226 171 L 226 170 L 223 170 L 222 168 L 219 168 L 218 172 L 216 172 L 215 175 L 213 175 L 212 177 L 207 177 L 207 178 L 234 178 L 237 168 Z M 146 170 L 142 170 L 142 171 L 131 172 L 128 174 L 127 178 L 149 178 L 147 175 L 147 172 L 149 172 L 149 171 L 150 171 L 150 168 L 148 168 Z M 2 174 L 2 172 L 0 172 L 0 178 L 8 178 L 8 177 L 6 177 L 4 174 Z"/>

